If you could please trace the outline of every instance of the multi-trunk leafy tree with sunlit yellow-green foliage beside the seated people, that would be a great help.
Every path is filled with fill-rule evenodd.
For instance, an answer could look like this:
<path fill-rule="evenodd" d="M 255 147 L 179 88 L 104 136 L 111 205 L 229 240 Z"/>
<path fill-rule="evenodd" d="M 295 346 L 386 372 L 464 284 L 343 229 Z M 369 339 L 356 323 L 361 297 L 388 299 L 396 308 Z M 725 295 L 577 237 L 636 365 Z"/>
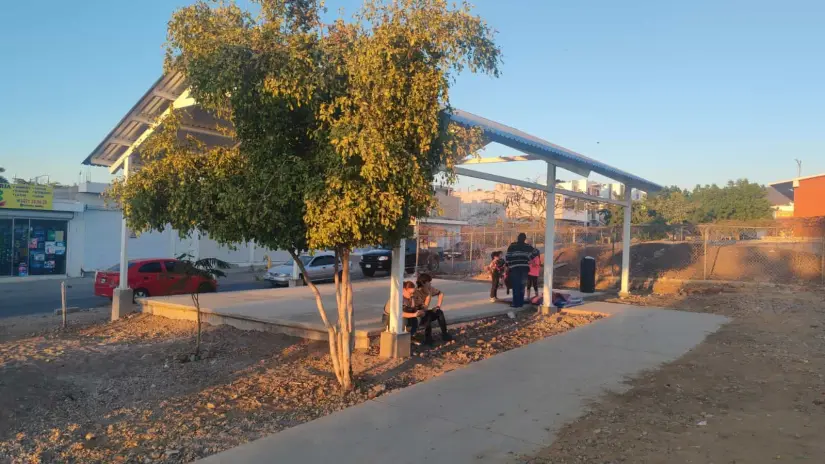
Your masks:
<path fill-rule="evenodd" d="M 233 142 L 178 135 L 170 117 L 141 147 L 142 169 L 112 196 L 130 227 L 200 230 L 298 254 L 332 249 L 338 317 L 326 313 L 333 371 L 352 386 L 349 255 L 396 243 L 435 206 L 433 180 L 481 146 L 450 124 L 449 88 L 464 69 L 498 75 L 492 31 L 442 0 L 367 1 L 352 22 L 323 24 L 316 0 L 197 2 L 169 22 L 167 69 L 226 120 Z"/>

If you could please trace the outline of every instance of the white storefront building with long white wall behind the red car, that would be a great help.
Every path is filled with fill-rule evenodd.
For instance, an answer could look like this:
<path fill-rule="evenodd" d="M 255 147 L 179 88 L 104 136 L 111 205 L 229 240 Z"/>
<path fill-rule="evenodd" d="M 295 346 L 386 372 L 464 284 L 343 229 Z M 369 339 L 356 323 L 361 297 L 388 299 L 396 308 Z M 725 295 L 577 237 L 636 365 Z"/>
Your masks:
<path fill-rule="evenodd" d="M 45 186 L 41 186 L 45 187 Z M 122 216 L 108 207 L 102 193 L 108 184 L 84 182 L 51 189 L 48 208 L 0 208 L 0 278 L 80 277 L 120 261 Z M 129 259 L 168 258 L 189 254 L 215 257 L 245 266 L 286 261 L 289 254 L 256 246 L 220 245 L 201 234 L 181 239 L 177 231 L 129 234 Z"/>

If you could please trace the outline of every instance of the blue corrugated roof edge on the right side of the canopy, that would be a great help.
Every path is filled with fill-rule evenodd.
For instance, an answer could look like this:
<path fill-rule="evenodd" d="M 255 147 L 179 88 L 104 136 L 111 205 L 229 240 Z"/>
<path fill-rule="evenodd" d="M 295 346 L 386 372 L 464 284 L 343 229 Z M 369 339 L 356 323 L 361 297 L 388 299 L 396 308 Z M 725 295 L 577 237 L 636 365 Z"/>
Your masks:
<path fill-rule="evenodd" d="M 597 172 L 603 176 L 615 179 L 631 187 L 643 190 L 645 192 L 657 192 L 662 190 L 662 186 L 634 176 L 620 169 L 608 166 L 600 161 L 588 158 L 582 154 L 576 153 L 567 148 L 560 147 L 554 143 L 542 140 L 538 137 L 532 136 L 518 129 L 514 129 L 504 124 L 491 121 L 481 116 L 453 109 L 448 113 L 450 120 L 468 127 L 480 127 L 484 134 L 492 141 L 506 145 L 516 150 L 547 158 L 548 161 L 558 161 L 563 164 L 568 164 L 587 171 Z"/>

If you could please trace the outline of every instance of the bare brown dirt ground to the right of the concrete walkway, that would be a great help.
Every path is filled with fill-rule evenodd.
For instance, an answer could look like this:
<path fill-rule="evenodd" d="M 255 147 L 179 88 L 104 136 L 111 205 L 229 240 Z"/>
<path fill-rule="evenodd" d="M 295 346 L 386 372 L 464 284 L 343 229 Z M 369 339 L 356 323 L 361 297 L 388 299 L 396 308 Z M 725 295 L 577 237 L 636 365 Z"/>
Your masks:
<path fill-rule="evenodd" d="M 632 301 L 733 322 L 593 405 L 529 462 L 825 462 L 825 291 L 706 288 Z"/>

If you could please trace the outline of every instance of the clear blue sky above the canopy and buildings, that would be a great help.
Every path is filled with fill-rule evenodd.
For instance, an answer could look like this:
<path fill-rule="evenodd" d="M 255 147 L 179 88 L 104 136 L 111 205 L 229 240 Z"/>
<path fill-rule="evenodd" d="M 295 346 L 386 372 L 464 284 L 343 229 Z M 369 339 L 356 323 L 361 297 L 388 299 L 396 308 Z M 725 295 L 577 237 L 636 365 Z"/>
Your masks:
<path fill-rule="evenodd" d="M 166 21 L 187 3 L 4 5 L 6 175 L 77 181 L 80 162 L 159 76 Z M 825 2 L 474 3 L 499 31 L 503 74 L 461 76 L 458 108 L 660 184 L 784 180 L 796 174 L 794 158 L 803 174 L 825 173 Z M 518 178 L 543 171 L 497 169 Z M 92 178 L 106 180 L 106 171 Z M 470 185 L 482 183 L 460 183 Z"/>

